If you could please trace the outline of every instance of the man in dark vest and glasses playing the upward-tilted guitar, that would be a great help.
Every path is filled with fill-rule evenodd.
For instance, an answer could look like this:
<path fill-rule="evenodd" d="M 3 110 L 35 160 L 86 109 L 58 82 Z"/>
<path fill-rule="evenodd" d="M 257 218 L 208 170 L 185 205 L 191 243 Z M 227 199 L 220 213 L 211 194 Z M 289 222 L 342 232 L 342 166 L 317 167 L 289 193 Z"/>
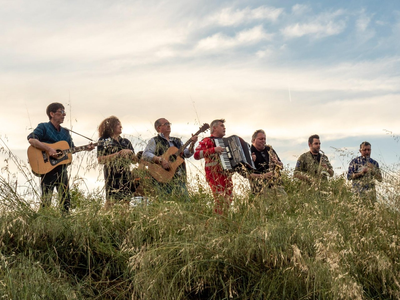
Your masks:
<path fill-rule="evenodd" d="M 163 159 L 162 155 L 167 151 L 169 147 L 180 148 L 183 145 L 181 139 L 177 137 L 171 137 L 171 123 L 165 118 L 160 118 L 154 122 L 154 129 L 158 132 L 158 135 L 152 137 L 148 142 L 146 149 L 142 154 L 142 159 L 145 161 L 151 161 L 160 165 L 163 169 L 168 170 L 170 163 L 168 160 Z M 197 135 L 190 138 L 190 146 L 182 152 L 183 158 L 189 158 L 194 154 L 194 144 L 198 139 Z M 176 169 L 174 178 L 168 183 L 160 183 L 154 180 L 154 184 L 162 196 L 176 193 L 178 197 L 182 197 L 185 202 L 190 201 L 188 189 L 186 188 L 186 164 L 183 162 Z"/>

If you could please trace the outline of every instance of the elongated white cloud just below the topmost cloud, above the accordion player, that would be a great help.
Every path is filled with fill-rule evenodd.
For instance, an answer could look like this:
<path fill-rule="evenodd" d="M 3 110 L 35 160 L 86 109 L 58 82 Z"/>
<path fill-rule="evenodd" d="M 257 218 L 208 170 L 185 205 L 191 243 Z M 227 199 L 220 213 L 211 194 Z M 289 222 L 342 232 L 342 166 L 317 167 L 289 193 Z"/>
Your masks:
<path fill-rule="evenodd" d="M 272 34 L 265 32 L 261 25 L 251 29 L 239 31 L 234 37 L 227 36 L 220 32 L 208 36 L 198 42 L 197 50 L 224 50 L 238 46 L 256 44 L 263 40 L 271 40 Z"/>

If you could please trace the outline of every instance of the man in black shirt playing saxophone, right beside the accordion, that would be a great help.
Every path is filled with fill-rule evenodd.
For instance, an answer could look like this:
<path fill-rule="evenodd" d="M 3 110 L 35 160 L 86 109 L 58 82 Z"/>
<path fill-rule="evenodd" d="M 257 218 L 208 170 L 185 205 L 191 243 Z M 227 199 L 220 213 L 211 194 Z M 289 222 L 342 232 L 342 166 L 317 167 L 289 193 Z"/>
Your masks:
<path fill-rule="evenodd" d="M 250 149 L 256 155 L 254 161 L 256 171 L 249 177 L 252 193 L 264 196 L 270 193 L 287 196 L 284 188 L 279 185 L 279 170 L 283 169 L 283 163 L 275 150 L 266 145 L 265 141 L 264 130 L 258 129 L 253 133 Z"/>

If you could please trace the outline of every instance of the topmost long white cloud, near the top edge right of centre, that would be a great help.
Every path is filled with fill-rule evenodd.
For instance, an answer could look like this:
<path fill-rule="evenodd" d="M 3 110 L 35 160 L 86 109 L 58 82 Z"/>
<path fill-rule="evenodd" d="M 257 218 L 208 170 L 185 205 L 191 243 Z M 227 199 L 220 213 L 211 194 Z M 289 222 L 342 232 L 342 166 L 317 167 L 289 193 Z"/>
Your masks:
<path fill-rule="evenodd" d="M 242 23 L 252 22 L 254 20 L 269 20 L 275 22 L 282 14 L 283 8 L 272 8 L 259 6 L 251 9 L 236 9 L 232 7 L 223 8 L 208 17 L 208 24 L 218 24 L 220 26 L 238 26 Z"/>

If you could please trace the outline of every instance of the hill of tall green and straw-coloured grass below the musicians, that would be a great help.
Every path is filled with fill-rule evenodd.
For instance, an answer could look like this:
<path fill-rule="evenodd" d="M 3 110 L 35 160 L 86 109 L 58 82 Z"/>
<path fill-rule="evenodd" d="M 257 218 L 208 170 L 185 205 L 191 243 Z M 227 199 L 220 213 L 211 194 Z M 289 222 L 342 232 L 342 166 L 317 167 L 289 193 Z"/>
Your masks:
<path fill-rule="evenodd" d="M 400 299 L 396 209 L 353 197 L 342 177 L 318 190 L 284 181 L 288 198 L 238 196 L 225 217 L 201 189 L 190 204 L 110 211 L 78 193 L 62 217 L 3 182 L 0 297 Z"/>

